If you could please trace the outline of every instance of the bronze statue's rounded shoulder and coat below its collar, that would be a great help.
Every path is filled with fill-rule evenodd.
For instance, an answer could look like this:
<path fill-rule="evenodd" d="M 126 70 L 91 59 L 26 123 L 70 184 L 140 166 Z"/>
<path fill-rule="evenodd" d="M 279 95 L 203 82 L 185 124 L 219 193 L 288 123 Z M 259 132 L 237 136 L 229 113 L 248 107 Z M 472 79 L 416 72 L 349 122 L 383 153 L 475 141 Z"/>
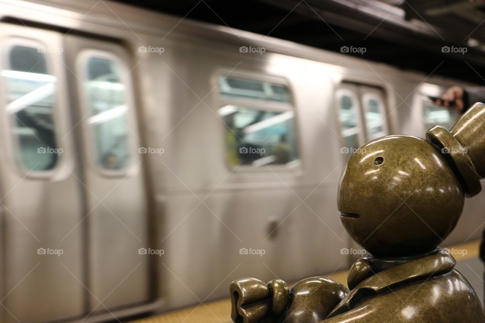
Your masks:
<path fill-rule="evenodd" d="M 473 288 L 461 273 L 419 279 L 375 297 L 361 299 L 351 310 L 322 323 L 363 322 L 485 322 Z"/>

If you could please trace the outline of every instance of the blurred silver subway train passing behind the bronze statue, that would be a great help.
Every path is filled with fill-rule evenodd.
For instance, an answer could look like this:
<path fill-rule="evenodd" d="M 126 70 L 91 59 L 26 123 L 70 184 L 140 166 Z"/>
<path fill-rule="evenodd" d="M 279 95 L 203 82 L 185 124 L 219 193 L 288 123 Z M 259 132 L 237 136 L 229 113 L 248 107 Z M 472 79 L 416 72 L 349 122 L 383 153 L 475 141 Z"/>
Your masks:
<path fill-rule="evenodd" d="M 429 96 L 472 85 L 105 0 L 0 9 L 2 322 L 118 320 L 348 268 L 350 154 L 450 128 Z M 443 244 L 479 238 L 484 206 L 467 200 Z"/>

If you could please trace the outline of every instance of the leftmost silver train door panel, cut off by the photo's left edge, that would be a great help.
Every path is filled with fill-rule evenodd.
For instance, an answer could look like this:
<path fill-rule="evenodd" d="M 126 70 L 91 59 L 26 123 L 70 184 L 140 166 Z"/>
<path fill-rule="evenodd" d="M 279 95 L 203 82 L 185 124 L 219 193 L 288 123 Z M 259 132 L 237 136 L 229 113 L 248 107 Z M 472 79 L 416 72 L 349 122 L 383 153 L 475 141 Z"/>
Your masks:
<path fill-rule="evenodd" d="M 84 310 L 81 186 L 61 35 L 0 23 L 0 321 Z"/>

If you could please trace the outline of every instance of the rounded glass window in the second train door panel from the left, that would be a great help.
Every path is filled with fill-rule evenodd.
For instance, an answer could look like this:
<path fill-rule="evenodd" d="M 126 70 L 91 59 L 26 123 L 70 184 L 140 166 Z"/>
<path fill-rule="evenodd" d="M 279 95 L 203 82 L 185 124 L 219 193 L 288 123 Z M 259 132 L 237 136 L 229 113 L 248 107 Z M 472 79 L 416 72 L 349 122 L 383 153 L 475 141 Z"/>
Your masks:
<path fill-rule="evenodd" d="M 123 169 L 129 165 L 130 154 L 128 105 L 120 66 L 110 59 L 91 57 L 87 61 L 87 76 L 87 123 L 96 162 L 104 169 Z"/>

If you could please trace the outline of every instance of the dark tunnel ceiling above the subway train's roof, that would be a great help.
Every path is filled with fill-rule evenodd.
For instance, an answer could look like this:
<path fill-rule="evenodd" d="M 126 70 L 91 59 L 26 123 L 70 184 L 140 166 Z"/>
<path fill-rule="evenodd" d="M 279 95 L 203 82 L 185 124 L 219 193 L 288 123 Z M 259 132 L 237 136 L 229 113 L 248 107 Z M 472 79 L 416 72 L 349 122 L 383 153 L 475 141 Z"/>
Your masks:
<path fill-rule="evenodd" d="M 365 54 L 356 56 L 485 84 L 485 3 L 481 1 L 118 2 L 337 52 L 342 46 L 363 46 Z M 466 47 L 466 52 L 457 47 Z"/>

